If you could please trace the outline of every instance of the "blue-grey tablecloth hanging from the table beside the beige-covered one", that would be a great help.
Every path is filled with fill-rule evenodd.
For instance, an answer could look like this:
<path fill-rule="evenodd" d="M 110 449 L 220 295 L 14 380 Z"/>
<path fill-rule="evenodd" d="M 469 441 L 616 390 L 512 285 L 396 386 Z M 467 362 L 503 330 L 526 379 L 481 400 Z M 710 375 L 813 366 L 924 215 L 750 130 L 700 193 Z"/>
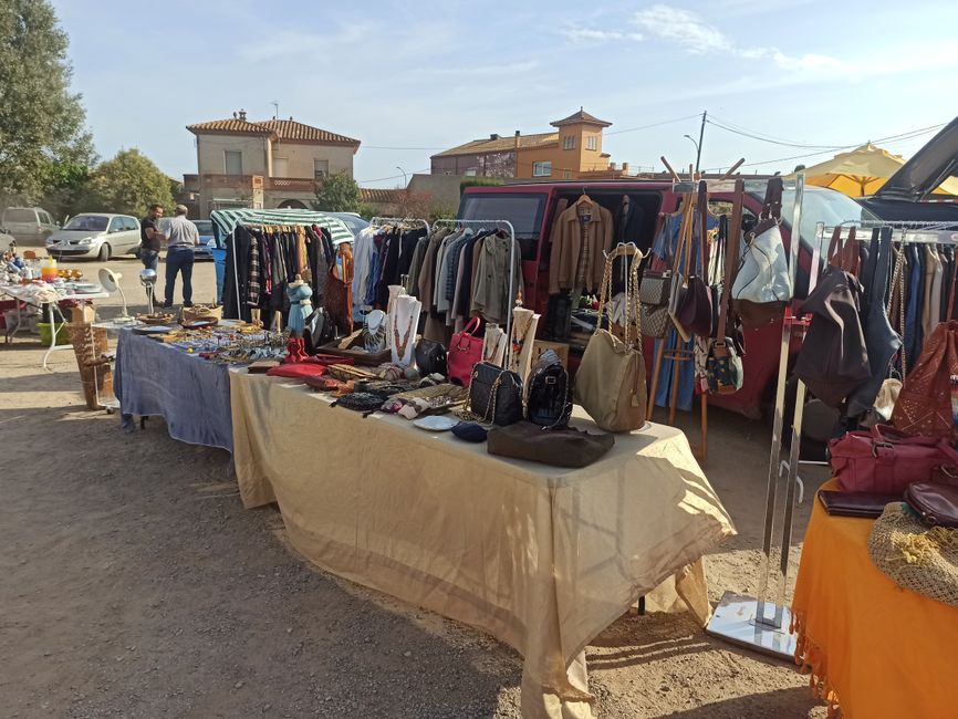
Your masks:
<path fill-rule="evenodd" d="M 226 365 L 122 330 L 114 392 L 124 415 L 160 416 L 174 439 L 232 451 Z"/>

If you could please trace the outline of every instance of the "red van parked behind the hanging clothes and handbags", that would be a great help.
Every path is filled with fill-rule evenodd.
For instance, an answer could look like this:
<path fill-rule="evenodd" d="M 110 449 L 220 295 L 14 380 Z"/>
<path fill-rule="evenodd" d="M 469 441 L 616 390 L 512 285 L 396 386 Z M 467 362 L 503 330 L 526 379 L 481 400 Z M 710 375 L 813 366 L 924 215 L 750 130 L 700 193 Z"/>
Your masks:
<path fill-rule="evenodd" d="M 762 185 L 761 188 L 758 186 Z M 752 187 L 756 187 L 752 190 Z M 549 304 L 549 233 L 560 200 L 574 202 L 583 194 L 607 209 L 628 196 L 643 211 L 641 237 L 628 238 L 635 241 L 643 252 L 652 247 L 659 212 L 674 212 L 678 209 L 680 195 L 673 189 L 671 183 L 656 180 L 605 180 L 565 183 L 523 183 L 501 186 L 469 187 L 459 204 L 459 219 L 467 220 L 509 220 L 516 229 L 516 240 L 522 248 L 522 272 L 525 282 L 523 304 L 543 315 L 539 326 L 544 326 L 544 315 Z M 744 225 L 754 222 L 762 206 L 763 183 L 748 181 L 746 185 Z M 709 204 L 718 211 L 727 211 L 731 204 L 731 192 L 715 194 Z M 725 204 L 725 206 L 722 206 Z M 791 240 L 791 220 L 794 207 L 794 190 L 785 189 L 782 202 L 782 235 L 785 243 Z M 802 244 L 799 251 L 799 272 L 796 295 L 804 296 L 808 290 L 809 270 L 812 260 L 812 243 L 815 241 L 815 225 L 824 222 L 834 226 L 848 221 L 876 220 L 846 195 L 834 190 L 805 187 L 802 202 Z M 770 324 L 758 330 L 746 330 L 744 384 L 733 395 L 714 395 L 709 404 L 725 407 L 747 417 L 761 416 L 762 402 L 771 398 L 778 373 L 781 348 L 781 323 Z M 574 369 L 581 357 L 582 347 L 570 345 L 570 365 Z M 653 342 L 647 341 L 646 367 L 652 372 Z M 792 351 L 798 350 L 793 343 Z"/>

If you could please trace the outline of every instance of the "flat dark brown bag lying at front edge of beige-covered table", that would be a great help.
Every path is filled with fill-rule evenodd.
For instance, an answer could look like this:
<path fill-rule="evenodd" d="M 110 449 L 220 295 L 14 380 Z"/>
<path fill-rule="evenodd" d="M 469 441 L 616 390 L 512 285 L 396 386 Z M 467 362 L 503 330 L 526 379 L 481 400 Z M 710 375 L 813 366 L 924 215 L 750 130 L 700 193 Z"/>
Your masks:
<path fill-rule="evenodd" d="M 520 421 L 492 429 L 488 435 L 490 455 L 528 459 L 553 467 L 586 467 L 615 445 L 615 436 L 591 435 L 580 429 L 543 429 Z"/>

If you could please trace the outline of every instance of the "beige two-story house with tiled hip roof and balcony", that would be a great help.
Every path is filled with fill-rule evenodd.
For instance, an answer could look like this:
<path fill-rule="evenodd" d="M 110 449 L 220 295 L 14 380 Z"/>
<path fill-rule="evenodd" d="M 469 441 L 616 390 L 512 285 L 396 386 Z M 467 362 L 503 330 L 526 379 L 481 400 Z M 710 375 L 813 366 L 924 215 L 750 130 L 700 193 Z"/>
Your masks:
<path fill-rule="evenodd" d="M 305 209 L 317 180 L 353 175 L 360 140 L 289 119 L 251 122 L 246 111 L 187 125 L 196 135 L 197 174 L 184 175 L 195 217 L 227 207 Z"/>

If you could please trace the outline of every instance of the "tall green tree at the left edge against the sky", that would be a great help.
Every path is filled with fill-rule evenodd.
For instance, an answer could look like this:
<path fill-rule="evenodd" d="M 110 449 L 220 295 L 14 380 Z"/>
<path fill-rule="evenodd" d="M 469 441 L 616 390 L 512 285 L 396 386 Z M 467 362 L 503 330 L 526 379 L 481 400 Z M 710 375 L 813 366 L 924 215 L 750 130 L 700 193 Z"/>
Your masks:
<path fill-rule="evenodd" d="M 63 190 L 62 166 L 95 161 L 66 33 L 46 0 L 0 2 L 0 195 Z"/>

